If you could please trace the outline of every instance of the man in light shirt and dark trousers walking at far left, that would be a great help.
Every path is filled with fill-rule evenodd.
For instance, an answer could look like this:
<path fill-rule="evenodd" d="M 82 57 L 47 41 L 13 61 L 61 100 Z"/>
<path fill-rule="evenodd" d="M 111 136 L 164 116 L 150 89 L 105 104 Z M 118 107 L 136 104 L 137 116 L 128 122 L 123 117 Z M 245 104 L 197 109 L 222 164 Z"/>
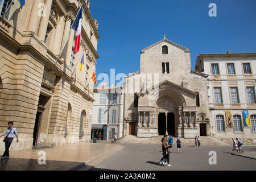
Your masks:
<path fill-rule="evenodd" d="M 15 135 L 17 138 L 16 142 L 17 143 L 19 142 L 18 132 L 17 132 L 16 128 L 13 127 L 13 122 L 9 122 L 8 126 L 9 127 L 7 127 L 7 129 L 0 136 L 0 137 L 3 137 L 7 134 L 5 139 L 3 139 L 3 142 L 5 142 L 5 152 L 3 153 L 1 159 L 9 159 L 9 148 L 11 146 L 11 143 L 13 142 L 13 138 L 15 137 Z"/>

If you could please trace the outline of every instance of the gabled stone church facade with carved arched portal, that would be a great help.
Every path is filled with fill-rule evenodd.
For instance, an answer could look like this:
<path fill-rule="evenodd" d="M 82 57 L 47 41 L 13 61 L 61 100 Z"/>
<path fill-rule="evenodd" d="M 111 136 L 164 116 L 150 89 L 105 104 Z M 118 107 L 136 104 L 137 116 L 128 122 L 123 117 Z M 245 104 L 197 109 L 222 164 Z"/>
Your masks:
<path fill-rule="evenodd" d="M 210 135 L 208 75 L 192 71 L 189 49 L 164 37 L 142 49 L 140 68 L 125 76 L 124 135 Z"/>

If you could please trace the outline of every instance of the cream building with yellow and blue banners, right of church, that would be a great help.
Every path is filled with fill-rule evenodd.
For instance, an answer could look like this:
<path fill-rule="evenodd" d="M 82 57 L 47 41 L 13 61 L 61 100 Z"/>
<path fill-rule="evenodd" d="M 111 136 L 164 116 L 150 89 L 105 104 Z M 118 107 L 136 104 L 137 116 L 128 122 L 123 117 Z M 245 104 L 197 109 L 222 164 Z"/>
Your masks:
<path fill-rule="evenodd" d="M 243 143 L 256 143 L 256 53 L 202 54 L 195 69 L 209 75 L 212 136 L 230 143 L 236 137 Z M 248 112 L 249 125 L 244 122 L 243 111 Z"/>

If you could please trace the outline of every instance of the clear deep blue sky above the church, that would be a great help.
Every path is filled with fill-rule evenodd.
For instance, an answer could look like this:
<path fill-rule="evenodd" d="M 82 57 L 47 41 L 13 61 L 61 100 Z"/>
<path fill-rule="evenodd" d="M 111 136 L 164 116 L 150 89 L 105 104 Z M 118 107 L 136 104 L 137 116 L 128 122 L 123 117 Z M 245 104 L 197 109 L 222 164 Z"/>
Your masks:
<path fill-rule="evenodd" d="M 217 17 L 208 15 L 212 2 Z M 97 75 L 138 71 L 141 49 L 164 34 L 191 49 L 192 69 L 201 53 L 256 52 L 255 0 L 92 0 L 90 11 L 101 36 Z"/>

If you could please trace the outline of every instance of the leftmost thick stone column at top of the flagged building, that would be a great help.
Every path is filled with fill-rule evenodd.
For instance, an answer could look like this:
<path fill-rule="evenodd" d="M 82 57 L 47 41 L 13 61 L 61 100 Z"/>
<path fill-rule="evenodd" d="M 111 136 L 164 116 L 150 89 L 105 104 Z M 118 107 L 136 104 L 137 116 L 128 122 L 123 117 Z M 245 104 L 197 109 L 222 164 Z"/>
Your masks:
<path fill-rule="evenodd" d="M 39 23 L 42 15 L 38 15 L 40 13 L 39 3 L 43 3 L 44 0 L 34 0 L 30 20 L 28 22 L 27 30 L 38 34 Z"/>

